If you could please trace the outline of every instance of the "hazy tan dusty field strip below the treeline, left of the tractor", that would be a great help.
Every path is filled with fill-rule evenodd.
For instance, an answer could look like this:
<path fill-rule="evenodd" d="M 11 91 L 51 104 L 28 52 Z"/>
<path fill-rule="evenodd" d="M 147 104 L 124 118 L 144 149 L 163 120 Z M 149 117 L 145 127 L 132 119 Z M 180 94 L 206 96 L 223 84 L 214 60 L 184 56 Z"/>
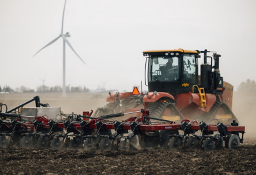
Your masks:
<path fill-rule="evenodd" d="M 67 93 L 66 98 L 62 93 L 12 93 L 0 94 L 0 102 L 8 106 L 8 110 L 17 107 L 21 103 L 31 100 L 34 96 L 40 97 L 41 103 L 49 103 L 50 107 L 61 107 L 65 114 L 83 114 L 83 111 L 95 111 L 97 107 L 106 105 L 108 93 L 95 95 L 95 93 Z M 31 102 L 25 107 L 35 107 L 35 102 Z M 3 110 L 5 111 L 4 107 Z M 3 112 L 4 112 L 3 111 Z"/>

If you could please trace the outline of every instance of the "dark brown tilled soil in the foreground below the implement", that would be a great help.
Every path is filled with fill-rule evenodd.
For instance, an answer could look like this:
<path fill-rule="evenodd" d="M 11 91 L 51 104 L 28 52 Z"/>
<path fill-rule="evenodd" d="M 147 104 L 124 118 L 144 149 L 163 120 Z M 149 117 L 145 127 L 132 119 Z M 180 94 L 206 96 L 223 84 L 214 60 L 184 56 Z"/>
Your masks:
<path fill-rule="evenodd" d="M 0 149 L 0 174 L 255 174 L 256 145 L 238 149 Z"/>

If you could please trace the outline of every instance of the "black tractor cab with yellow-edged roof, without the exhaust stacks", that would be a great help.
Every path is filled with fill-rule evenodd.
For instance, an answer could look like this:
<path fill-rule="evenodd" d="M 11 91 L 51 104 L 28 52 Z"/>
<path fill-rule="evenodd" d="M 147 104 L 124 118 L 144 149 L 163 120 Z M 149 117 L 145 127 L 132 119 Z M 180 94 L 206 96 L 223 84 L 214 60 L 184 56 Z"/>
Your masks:
<path fill-rule="evenodd" d="M 198 84 L 197 50 L 144 51 L 148 64 L 148 91 L 188 93 Z"/>

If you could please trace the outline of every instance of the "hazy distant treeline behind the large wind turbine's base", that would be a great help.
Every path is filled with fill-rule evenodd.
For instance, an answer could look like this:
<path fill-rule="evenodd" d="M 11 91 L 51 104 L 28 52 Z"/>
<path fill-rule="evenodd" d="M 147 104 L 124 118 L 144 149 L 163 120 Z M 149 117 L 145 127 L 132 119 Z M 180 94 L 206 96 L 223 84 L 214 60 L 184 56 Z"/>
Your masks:
<path fill-rule="evenodd" d="M 90 89 L 86 88 L 85 86 L 66 86 L 67 93 L 87 93 Z M 36 88 L 37 93 L 58 93 L 62 92 L 61 86 L 39 86 Z M 12 89 L 10 86 L 6 85 L 3 88 L 0 86 L 0 93 L 35 93 L 34 89 L 30 89 L 26 86 L 21 86 L 20 88 Z"/>

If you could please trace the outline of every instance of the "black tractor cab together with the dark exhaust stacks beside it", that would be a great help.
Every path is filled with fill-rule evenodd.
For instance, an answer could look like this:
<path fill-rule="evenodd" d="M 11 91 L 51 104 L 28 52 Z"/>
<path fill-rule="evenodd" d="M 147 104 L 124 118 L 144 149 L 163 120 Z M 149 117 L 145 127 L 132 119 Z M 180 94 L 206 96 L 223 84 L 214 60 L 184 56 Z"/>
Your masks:
<path fill-rule="evenodd" d="M 212 57 L 207 56 L 206 49 L 198 50 L 152 50 L 144 51 L 147 57 L 147 82 L 148 91 L 166 92 L 173 95 L 193 92 L 193 86 L 204 89 L 205 93 L 216 96 L 223 94 L 223 77 L 219 70 L 219 57 L 221 55 L 213 52 Z M 204 63 L 200 65 L 200 77 L 198 79 L 198 58 L 200 53 L 204 54 Z M 211 58 L 211 65 L 207 63 Z M 146 65 L 147 66 L 147 65 Z M 212 69 L 214 68 L 214 71 Z M 146 78 L 146 77 L 145 77 Z"/>

